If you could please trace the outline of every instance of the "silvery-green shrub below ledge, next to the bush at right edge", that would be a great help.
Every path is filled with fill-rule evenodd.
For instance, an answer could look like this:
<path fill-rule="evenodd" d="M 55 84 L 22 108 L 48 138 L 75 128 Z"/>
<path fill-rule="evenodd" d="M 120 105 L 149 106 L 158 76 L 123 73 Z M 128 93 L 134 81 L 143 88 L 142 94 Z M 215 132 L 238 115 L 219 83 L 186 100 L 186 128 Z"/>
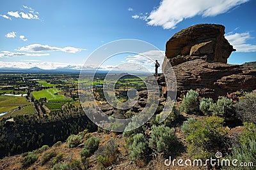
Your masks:
<path fill-rule="evenodd" d="M 211 104 L 209 111 L 212 111 L 213 116 L 227 117 L 228 111 L 232 108 L 232 99 L 220 97 L 217 103 Z"/>

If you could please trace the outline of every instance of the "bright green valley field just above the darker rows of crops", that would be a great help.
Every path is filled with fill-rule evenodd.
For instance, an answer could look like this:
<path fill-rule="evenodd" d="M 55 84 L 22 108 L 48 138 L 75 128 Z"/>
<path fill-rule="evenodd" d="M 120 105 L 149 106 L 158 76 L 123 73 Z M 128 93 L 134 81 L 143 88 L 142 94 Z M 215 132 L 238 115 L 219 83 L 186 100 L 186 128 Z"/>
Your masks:
<path fill-rule="evenodd" d="M 45 89 L 45 90 L 35 91 L 35 92 L 32 92 L 32 94 L 37 100 L 44 97 L 46 97 L 48 101 L 67 100 L 65 96 L 61 94 L 56 94 L 58 92 L 61 92 L 61 90 L 54 88 L 54 89 Z"/>

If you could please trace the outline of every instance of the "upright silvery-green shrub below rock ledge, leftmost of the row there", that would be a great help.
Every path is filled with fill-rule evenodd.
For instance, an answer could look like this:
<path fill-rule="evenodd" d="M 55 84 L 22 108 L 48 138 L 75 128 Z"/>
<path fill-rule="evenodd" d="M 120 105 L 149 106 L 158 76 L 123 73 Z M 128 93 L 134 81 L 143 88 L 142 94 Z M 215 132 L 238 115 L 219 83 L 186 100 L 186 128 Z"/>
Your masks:
<path fill-rule="evenodd" d="M 193 113 L 198 110 L 198 92 L 189 90 L 186 96 L 184 96 L 180 111 L 185 113 Z"/>

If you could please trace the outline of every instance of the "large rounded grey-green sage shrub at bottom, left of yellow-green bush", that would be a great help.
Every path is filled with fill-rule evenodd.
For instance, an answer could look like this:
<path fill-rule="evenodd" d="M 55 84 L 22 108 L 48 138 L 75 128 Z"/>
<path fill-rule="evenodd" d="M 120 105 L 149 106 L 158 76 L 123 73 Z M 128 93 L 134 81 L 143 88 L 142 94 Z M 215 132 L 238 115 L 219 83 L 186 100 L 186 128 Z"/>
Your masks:
<path fill-rule="evenodd" d="M 172 146 L 177 142 L 175 138 L 174 129 L 165 127 L 164 125 L 153 125 L 151 131 L 151 138 L 149 139 L 149 146 L 156 152 L 169 152 Z"/>

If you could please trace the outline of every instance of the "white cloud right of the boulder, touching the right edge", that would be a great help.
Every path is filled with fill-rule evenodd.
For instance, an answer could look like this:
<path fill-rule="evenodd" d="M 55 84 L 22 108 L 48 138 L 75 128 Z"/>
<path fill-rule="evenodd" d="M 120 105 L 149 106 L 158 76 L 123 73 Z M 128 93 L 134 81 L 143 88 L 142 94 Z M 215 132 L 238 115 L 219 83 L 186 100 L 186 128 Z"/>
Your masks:
<path fill-rule="evenodd" d="M 229 32 L 225 35 L 229 43 L 233 45 L 236 52 L 256 52 L 256 45 L 247 43 L 249 39 L 252 39 L 249 32 L 233 33 Z"/>

